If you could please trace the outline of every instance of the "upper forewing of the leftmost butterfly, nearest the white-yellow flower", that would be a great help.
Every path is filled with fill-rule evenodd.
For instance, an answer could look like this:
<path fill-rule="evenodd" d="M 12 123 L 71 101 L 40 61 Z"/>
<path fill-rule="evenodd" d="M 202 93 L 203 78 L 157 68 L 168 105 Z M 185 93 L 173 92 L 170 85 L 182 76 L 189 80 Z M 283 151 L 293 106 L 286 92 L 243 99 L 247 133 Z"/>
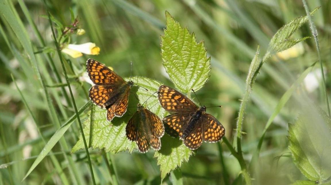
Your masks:
<path fill-rule="evenodd" d="M 126 83 L 122 77 L 120 77 L 110 68 L 93 59 L 87 60 L 86 70 L 88 76 L 90 77 L 92 82 L 96 85 L 104 85 L 104 86 L 107 85 L 107 86 L 118 87 L 121 84 Z"/>

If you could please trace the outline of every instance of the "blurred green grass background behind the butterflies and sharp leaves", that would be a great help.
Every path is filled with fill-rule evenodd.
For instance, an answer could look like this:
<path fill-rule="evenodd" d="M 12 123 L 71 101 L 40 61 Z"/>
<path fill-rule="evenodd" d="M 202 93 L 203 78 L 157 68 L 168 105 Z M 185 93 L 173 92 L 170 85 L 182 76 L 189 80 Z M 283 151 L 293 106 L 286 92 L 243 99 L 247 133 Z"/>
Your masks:
<path fill-rule="evenodd" d="M 127 151 L 115 154 L 114 151 L 106 153 L 90 149 L 91 162 L 88 162 L 85 150 L 72 154 L 71 149 L 81 135 L 76 119 L 52 152 L 21 182 L 50 137 L 75 115 L 75 109 L 52 39 L 44 2 L 4 2 L 0 5 L 0 184 L 92 184 L 89 164 L 97 184 L 159 184 L 160 166 L 153 150 L 147 154 L 137 150 L 132 154 Z M 88 58 L 113 67 L 122 77 L 130 76 L 132 61 L 134 76 L 153 78 L 174 87 L 162 66 L 160 48 L 160 35 L 166 23 L 165 11 L 168 11 L 182 26 L 193 31 L 197 40 L 204 40 L 208 56 L 211 56 L 212 71 L 197 96 L 206 106 L 223 106 L 222 109 L 210 108 L 207 112 L 223 124 L 227 141 L 235 150 L 238 149 L 236 128 L 240 100 L 247 87 L 253 85 L 250 80 L 245 80 L 258 45 L 262 58 L 280 27 L 306 15 L 302 1 L 286 0 L 54 0 L 46 1 L 46 4 L 51 15 L 65 26 L 72 23 L 71 10 L 78 17 L 78 26 L 86 33 L 71 35 L 70 43 L 94 42 L 101 49 L 97 56 L 84 54 L 71 58 L 64 55 L 64 66 L 78 110 L 88 102 L 90 84 L 83 76 Z M 308 6 L 310 10 L 321 6 L 312 21 L 318 31 L 320 58 L 329 94 L 331 6 L 329 1 L 319 0 L 309 1 Z M 306 135 L 314 138 L 320 134 L 313 131 L 321 128 L 317 123 L 329 120 L 327 114 L 322 114 L 321 121 L 310 119 L 313 118 L 310 116 L 297 119 L 299 113 L 320 115 L 319 108 L 313 109 L 318 110 L 316 113 L 302 112 L 300 108 L 304 105 L 328 110 L 321 73 L 318 74 L 319 63 L 308 68 L 319 59 L 308 22 L 292 38 L 307 36 L 311 38 L 265 61 L 244 109 L 241 150 L 253 184 L 291 184 L 307 178 L 314 181 L 329 178 L 329 171 L 324 173 L 325 178 L 318 178 L 318 172 L 305 173 L 298 165 L 301 158 L 294 156 L 293 160 L 290 153 L 299 151 L 294 146 L 298 146 L 296 143 L 300 143 L 300 139 L 289 137 L 289 143 L 286 137 L 289 135 L 288 123 L 309 120 Z M 310 80 L 317 79 L 316 83 L 299 83 L 310 71 L 313 71 L 309 73 Z M 300 77 L 302 79 L 298 82 Z M 317 85 L 313 87 L 314 84 Z M 284 97 L 289 100 L 284 101 Z M 286 104 L 279 106 L 280 102 Z M 272 116 L 275 113 L 277 116 Z M 83 113 L 80 119 L 89 117 Z M 261 139 L 267 123 L 271 125 Z M 296 129 L 290 131 L 296 132 Z M 260 143 L 260 155 L 256 155 L 259 140 L 263 142 Z M 330 142 L 327 138 L 313 141 L 312 145 L 318 144 L 321 148 Z M 242 164 L 230 149 L 222 142 L 204 143 L 188 162 L 182 163 L 180 169 L 167 175 L 163 183 L 247 182 L 242 175 Z M 320 164 L 330 162 L 325 162 L 325 156 L 318 154 L 310 153 L 319 158 Z"/>

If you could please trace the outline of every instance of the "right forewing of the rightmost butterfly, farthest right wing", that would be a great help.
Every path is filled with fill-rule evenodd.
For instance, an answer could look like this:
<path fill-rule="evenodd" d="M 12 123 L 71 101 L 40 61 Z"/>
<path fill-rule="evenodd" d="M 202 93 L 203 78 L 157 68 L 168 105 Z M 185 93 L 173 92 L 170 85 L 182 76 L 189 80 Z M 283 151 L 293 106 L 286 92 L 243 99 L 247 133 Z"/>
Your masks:
<path fill-rule="evenodd" d="M 205 142 L 218 142 L 225 134 L 223 125 L 212 115 L 203 114 L 199 120 L 203 127 L 203 139 Z"/>

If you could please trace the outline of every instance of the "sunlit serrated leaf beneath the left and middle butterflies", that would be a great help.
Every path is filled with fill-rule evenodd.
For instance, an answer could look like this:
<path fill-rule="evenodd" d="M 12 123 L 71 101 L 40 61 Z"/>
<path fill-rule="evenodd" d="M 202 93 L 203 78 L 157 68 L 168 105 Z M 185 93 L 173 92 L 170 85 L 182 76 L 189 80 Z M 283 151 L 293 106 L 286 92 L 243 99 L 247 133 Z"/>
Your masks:
<path fill-rule="evenodd" d="M 129 80 L 129 79 L 125 79 Z M 107 110 L 101 109 L 98 106 L 93 106 L 92 127 L 90 126 L 90 119 L 84 120 L 84 135 L 86 142 L 93 148 L 104 148 L 107 152 L 118 153 L 128 150 L 130 153 L 137 148 L 135 142 L 131 142 L 126 138 L 125 127 L 128 120 L 137 110 L 137 104 L 144 103 L 148 98 L 146 104 L 147 108 L 156 115 L 163 118 L 165 111 L 160 106 L 158 98 L 153 93 L 157 92 L 160 82 L 144 77 L 132 77 L 131 80 L 143 88 L 134 86 L 131 88 L 129 97 L 128 110 L 121 118 L 114 118 L 111 122 L 107 121 Z M 140 101 L 138 101 L 137 97 Z M 152 96 L 152 97 L 151 97 Z M 91 141 L 90 141 L 91 139 Z M 73 146 L 71 152 L 75 152 L 84 148 L 82 137 L 79 138 L 76 145 Z"/>

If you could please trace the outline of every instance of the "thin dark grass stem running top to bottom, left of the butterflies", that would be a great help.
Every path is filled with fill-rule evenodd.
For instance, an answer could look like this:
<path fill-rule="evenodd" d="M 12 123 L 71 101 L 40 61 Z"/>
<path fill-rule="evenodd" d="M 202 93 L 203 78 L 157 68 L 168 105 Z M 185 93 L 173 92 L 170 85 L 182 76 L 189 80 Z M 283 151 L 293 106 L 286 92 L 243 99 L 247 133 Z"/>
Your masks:
<path fill-rule="evenodd" d="M 59 44 L 58 44 L 58 42 L 56 40 L 56 36 L 55 36 L 54 28 L 53 28 L 53 23 L 51 21 L 51 15 L 49 13 L 49 10 L 48 10 L 47 4 L 46 4 L 46 0 L 44 0 L 44 4 L 45 4 L 47 15 L 48 15 L 48 21 L 49 21 L 49 24 L 51 26 L 51 30 L 52 30 L 52 34 L 53 34 L 53 38 L 54 38 L 54 43 L 55 43 L 55 46 L 56 46 L 56 50 L 58 52 L 58 55 L 59 55 L 59 58 L 60 58 L 60 62 L 61 62 L 61 66 L 62 66 L 64 75 L 65 75 L 65 78 L 66 78 L 66 82 L 68 84 L 68 88 L 69 88 L 69 92 L 70 92 L 71 100 L 72 100 L 72 105 L 73 105 L 73 108 L 75 109 L 75 113 L 76 113 L 76 116 L 77 116 L 77 121 L 78 121 L 78 124 L 79 124 L 79 127 L 80 127 L 80 131 L 81 131 L 81 134 L 82 134 L 82 138 L 83 138 L 83 142 L 84 142 L 84 146 L 85 146 L 85 151 L 86 151 L 86 155 L 87 155 L 87 159 L 88 159 L 88 164 L 89 164 L 89 167 L 90 167 L 92 182 L 95 185 L 95 179 L 94 179 L 94 174 L 93 174 L 93 169 L 92 169 L 90 154 L 88 152 L 88 148 L 87 148 L 87 144 L 86 144 L 86 139 L 85 139 L 85 135 L 84 135 L 84 131 L 83 131 L 83 126 L 81 124 L 81 121 L 80 121 L 80 118 L 79 118 L 79 114 L 78 114 L 78 110 L 77 110 L 77 106 L 76 106 L 76 103 L 75 103 L 75 99 L 74 99 L 73 94 L 72 94 L 72 91 L 71 91 L 71 86 L 70 86 L 70 82 L 69 82 L 69 79 L 68 79 L 67 71 L 66 71 L 66 68 L 64 66 L 63 59 L 62 59 L 60 47 L 59 47 Z"/>

